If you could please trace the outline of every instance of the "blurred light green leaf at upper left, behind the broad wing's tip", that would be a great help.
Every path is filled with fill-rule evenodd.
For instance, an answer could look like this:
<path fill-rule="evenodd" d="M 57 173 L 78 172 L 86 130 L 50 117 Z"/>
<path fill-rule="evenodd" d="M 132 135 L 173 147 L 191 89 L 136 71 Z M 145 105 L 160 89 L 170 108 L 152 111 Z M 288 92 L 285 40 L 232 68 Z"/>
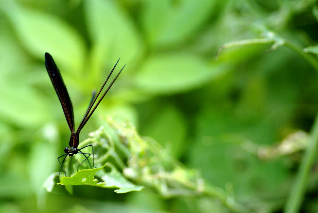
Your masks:
<path fill-rule="evenodd" d="M 81 36 L 63 20 L 19 6 L 14 1 L 5 1 L 0 9 L 10 19 L 25 48 L 43 60 L 49 52 L 59 64 L 75 71 L 83 68 L 85 45 Z"/>

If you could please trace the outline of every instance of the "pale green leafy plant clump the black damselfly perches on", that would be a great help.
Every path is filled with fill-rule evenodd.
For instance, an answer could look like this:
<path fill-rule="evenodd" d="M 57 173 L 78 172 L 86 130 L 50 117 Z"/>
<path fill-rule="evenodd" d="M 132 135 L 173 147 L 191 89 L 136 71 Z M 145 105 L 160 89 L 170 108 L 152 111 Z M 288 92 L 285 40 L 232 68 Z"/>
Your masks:
<path fill-rule="evenodd" d="M 79 145 L 93 145 L 97 168 L 75 172 L 83 159 L 73 157 L 65 162 L 66 173 L 75 174 L 62 177 L 57 184 L 64 185 L 69 193 L 75 185 L 116 188 L 116 193 L 144 188 L 166 198 L 207 196 L 223 202 L 233 211 L 247 211 L 221 188 L 207 185 L 197 170 L 185 167 L 155 140 L 140 136 L 131 122 L 113 117 L 104 120 L 105 125 L 91 132 L 90 137 Z M 82 165 L 88 167 L 86 164 Z M 52 191 L 57 176 L 58 173 L 53 173 L 46 179 L 44 187 L 47 191 Z"/>

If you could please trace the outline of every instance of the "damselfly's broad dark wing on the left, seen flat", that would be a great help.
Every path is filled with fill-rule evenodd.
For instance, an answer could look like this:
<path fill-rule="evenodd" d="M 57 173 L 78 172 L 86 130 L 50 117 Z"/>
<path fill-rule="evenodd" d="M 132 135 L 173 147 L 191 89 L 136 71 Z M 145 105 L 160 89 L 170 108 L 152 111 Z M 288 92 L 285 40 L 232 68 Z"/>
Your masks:
<path fill-rule="evenodd" d="M 49 53 L 45 53 L 44 57 L 47 73 L 50 76 L 55 92 L 61 102 L 67 124 L 70 127 L 71 132 L 74 132 L 73 106 L 70 96 L 68 96 L 68 92 L 63 82 L 62 76 L 59 72 L 59 68 L 56 66 L 52 56 Z"/>

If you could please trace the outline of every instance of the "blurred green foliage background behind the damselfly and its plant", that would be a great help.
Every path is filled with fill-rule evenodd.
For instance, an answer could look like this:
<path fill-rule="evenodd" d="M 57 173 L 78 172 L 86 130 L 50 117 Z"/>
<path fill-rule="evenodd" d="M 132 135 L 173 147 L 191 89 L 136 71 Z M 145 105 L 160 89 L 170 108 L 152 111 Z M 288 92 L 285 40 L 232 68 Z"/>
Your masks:
<path fill-rule="evenodd" d="M 45 52 L 61 70 L 75 126 L 116 60 L 127 64 L 80 140 L 99 115 L 116 114 L 237 202 L 282 212 L 318 109 L 316 4 L 1 0 L 0 212 L 230 212 L 204 197 L 43 192 L 69 140 Z M 317 179 L 312 170 L 301 212 L 318 211 Z"/>

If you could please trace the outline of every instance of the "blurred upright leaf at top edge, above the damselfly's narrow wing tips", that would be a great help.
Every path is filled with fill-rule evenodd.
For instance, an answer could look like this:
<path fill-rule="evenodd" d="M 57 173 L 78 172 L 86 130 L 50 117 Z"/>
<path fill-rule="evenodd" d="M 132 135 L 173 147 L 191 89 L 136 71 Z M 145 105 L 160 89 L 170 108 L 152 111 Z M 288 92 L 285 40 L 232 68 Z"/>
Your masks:
<path fill-rule="evenodd" d="M 93 42 L 91 69 L 99 72 L 105 65 L 132 63 L 142 53 L 143 45 L 132 18 L 117 1 L 85 1 L 86 23 Z M 126 68 L 127 70 L 127 68 Z"/>

